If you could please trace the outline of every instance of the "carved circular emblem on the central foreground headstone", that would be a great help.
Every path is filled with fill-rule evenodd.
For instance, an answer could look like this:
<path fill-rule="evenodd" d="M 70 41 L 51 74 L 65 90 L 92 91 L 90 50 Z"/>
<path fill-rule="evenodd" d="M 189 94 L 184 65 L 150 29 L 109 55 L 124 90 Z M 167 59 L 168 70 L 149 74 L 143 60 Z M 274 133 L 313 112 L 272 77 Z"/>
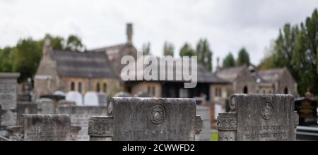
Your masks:
<path fill-rule="evenodd" d="M 160 125 L 165 122 L 165 107 L 156 104 L 149 111 L 149 120 L 154 125 Z"/>

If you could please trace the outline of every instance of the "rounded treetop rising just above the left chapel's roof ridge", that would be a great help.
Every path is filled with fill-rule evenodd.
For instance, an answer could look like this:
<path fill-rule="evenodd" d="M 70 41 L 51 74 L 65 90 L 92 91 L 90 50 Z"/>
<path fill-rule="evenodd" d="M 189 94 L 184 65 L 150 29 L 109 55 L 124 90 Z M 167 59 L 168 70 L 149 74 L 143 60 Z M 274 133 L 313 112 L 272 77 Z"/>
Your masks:
<path fill-rule="evenodd" d="M 57 41 L 59 41 L 59 37 L 56 38 Z M 60 42 L 62 41 L 63 39 L 60 40 Z M 77 37 L 76 35 L 70 35 L 68 38 L 67 38 L 67 41 L 66 41 L 66 46 L 65 48 L 66 50 L 70 50 L 70 51 L 85 51 L 85 46 L 82 44 L 82 41 L 79 37 Z"/>

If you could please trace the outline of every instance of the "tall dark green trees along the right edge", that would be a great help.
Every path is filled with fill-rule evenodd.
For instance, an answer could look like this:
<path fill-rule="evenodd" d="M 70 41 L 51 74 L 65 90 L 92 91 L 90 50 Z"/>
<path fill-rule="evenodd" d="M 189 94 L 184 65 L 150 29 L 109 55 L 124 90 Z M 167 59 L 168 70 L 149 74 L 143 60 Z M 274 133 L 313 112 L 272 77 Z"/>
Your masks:
<path fill-rule="evenodd" d="M 317 47 L 318 13 L 314 10 L 305 23 L 291 26 L 285 24 L 275 40 L 271 55 L 264 58 L 259 68 L 286 67 L 298 82 L 298 92 L 305 94 L 310 89 L 318 94 Z"/>

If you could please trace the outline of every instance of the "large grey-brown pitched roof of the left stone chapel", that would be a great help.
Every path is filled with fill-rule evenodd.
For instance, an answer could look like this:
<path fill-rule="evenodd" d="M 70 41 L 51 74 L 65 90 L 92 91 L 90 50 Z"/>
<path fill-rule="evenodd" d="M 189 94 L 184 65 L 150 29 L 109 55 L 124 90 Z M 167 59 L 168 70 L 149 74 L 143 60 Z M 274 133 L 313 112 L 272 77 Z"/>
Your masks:
<path fill-rule="evenodd" d="M 66 77 L 115 78 L 107 56 L 103 52 L 58 51 L 51 52 L 57 62 L 57 73 Z"/>

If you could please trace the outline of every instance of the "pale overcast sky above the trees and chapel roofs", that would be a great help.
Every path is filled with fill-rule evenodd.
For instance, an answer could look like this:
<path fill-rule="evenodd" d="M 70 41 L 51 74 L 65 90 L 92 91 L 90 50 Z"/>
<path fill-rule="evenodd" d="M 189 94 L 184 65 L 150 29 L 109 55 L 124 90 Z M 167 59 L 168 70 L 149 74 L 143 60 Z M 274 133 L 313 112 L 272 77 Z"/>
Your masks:
<path fill-rule="evenodd" d="M 93 49 L 126 42 L 126 23 L 134 23 L 134 44 L 151 42 L 154 55 L 165 41 L 178 55 L 184 42 L 207 38 L 214 66 L 242 46 L 258 64 L 284 23 L 300 23 L 317 7 L 318 0 L 0 0 L 0 47 L 49 33 L 76 34 Z"/>

